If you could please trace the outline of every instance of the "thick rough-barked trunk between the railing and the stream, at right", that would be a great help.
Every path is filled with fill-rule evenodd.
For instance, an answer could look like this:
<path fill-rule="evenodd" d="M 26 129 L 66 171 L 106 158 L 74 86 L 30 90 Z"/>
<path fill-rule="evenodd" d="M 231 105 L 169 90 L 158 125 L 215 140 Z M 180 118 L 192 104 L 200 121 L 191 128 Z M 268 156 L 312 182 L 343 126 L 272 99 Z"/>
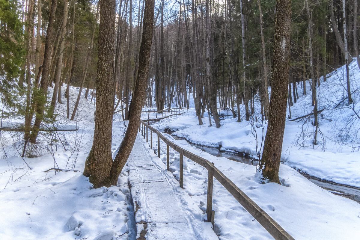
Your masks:
<path fill-rule="evenodd" d="M 280 184 L 279 168 L 288 98 L 291 0 L 276 0 L 274 68 L 271 81 L 269 123 L 259 171 L 264 180 Z"/>

